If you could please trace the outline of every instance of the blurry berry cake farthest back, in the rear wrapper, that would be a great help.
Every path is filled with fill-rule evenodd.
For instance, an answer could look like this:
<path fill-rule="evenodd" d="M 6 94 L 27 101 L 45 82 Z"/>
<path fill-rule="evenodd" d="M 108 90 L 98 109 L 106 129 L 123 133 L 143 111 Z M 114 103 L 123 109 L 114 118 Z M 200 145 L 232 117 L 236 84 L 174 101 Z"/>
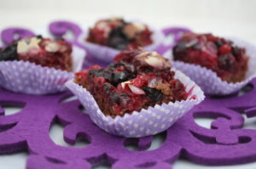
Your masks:
<path fill-rule="evenodd" d="M 99 20 L 91 28 L 87 37 L 88 42 L 123 50 L 128 46 L 133 48 L 151 44 L 152 32 L 147 25 L 126 22 L 119 18 Z"/>

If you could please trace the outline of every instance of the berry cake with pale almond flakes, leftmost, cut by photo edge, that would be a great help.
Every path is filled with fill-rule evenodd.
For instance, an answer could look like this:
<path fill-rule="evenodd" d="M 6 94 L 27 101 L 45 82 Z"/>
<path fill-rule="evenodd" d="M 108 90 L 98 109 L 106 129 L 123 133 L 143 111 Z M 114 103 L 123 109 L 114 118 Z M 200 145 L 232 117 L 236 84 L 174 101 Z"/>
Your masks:
<path fill-rule="evenodd" d="M 64 40 L 26 37 L 0 50 L 0 61 L 24 60 L 58 70 L 72 70 L 72 46 Z"/>

